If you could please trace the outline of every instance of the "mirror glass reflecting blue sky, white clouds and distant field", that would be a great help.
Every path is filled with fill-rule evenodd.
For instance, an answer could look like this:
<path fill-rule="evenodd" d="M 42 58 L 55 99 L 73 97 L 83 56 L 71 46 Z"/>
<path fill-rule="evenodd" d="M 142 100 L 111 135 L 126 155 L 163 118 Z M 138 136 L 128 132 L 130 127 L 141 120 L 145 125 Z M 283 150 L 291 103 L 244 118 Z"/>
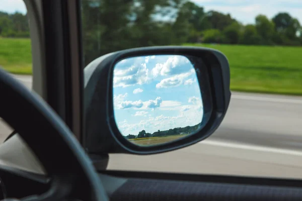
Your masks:
<path fill-rule="evenodd" d="M 120 133 L 140 146 L 193 134 L 203 117 L 194 66 L 182 55 L 139 56 L 117 62 L 113 102 Z"/>

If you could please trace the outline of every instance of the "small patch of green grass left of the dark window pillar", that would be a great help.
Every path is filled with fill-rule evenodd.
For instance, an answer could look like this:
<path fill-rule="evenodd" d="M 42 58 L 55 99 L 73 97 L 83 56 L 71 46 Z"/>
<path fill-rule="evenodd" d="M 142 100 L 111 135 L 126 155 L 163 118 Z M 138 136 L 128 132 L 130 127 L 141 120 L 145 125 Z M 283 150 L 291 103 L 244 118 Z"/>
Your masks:
<path fill-rule="evenodd" d="M 32 74 L 30 39 L 0 37 L 0 67 L 14 74 Z"/>

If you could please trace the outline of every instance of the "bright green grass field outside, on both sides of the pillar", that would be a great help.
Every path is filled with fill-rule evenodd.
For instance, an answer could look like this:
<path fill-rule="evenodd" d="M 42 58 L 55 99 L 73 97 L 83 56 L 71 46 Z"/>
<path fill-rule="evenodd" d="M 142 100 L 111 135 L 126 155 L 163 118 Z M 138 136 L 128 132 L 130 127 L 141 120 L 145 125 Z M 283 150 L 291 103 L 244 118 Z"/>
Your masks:
<path fill-rule="evenodd" d="M 302 95 L 302 47 L 199 45 L 228 57 L 231 90 Z M 11 73 L 31 74 L 29 39 L 0 38 L 0 66 Z"/>

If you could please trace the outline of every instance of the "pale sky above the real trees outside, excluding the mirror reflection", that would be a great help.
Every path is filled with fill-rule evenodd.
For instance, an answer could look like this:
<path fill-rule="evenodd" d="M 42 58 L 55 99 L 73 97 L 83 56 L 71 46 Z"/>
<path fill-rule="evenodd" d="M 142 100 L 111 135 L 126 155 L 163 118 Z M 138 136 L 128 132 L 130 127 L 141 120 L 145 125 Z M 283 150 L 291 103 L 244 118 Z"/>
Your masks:
<path fill-rule="evenodd" d="M 230 13 L 238 21 L 248 24 L 254 23 L 258 14 L 272 18 L 278 12 L 288 12 L 302 23 L 301 0 L 192 0 L 206 11 L 216 10 Z M 26 13 L 23 0 L 0 0 L 0 11 Z"/>

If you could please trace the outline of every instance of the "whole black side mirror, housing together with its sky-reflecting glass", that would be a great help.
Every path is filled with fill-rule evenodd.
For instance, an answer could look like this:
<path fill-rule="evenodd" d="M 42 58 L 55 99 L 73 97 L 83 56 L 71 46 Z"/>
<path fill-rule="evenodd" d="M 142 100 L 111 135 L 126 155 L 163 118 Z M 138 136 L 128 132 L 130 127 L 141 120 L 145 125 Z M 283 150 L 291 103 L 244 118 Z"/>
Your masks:
<path fill-rule="evenodd" d="M 218 128 L 230 98 L 229 63 L 219 51 L 164 46 L 110 53 L 85 68 L 84 146 L 133 154 L 189 146 Z"/>

